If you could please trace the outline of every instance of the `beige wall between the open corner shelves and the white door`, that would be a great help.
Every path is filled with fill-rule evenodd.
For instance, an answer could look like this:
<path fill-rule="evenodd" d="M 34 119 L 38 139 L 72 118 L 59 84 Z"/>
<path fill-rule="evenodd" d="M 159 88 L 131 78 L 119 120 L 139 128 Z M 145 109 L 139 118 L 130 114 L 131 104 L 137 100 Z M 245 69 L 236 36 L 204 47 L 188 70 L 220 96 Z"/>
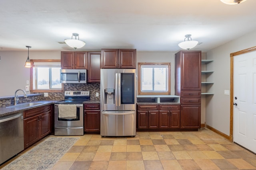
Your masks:
<path fill-rule="evenodd" d="M 230 135 L 230 96 L 224 95 L 224 90 L 230 90 L 230 53 L 256 46 L 255 37 L 253 31 L 206 53 L 206 59 L 214 60 L 207 65 L 208 70 L 214 70 L 208 77 L 214 82 L 209 89 L 214 96 L 206 98 L 206 124 L 226 135 Z"/>

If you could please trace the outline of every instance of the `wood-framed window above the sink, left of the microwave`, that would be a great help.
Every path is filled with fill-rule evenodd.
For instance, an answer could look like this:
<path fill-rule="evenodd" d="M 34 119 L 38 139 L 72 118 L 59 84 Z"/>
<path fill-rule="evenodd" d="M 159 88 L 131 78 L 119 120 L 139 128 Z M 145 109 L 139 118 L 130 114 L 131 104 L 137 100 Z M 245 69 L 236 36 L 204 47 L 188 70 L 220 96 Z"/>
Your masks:
<path fill-rule="evenodd" d="M 30 60 L 31 92 L 62 92 L 60 60 Z"/>

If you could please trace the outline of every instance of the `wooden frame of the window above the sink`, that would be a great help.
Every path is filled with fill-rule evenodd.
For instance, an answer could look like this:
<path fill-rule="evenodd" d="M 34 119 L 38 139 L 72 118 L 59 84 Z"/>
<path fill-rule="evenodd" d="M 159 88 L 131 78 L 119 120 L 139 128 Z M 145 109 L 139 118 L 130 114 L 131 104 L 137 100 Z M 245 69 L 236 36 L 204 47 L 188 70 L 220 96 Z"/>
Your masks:
<path fill-rule="evenodd" d="M 33 68 L 34 68 L 34 63 L 36 62 L 45 62 L 45 63 L 52 63 L 52 62 L 58 62 L 60 63 L 60 59 L 31 59 L 30 63 L 31 63 L 31 67 L 30 67 L 30 92 L 33 93 L 49 93 L 49 92 L 64 92 L 64 86 L 63 83 L 61 84 L 61 89 L 60 90 L 47 90 L 47 89 L 42 89 L 42 90 L 38 90 L 38 89 L 33 89 Z"/>

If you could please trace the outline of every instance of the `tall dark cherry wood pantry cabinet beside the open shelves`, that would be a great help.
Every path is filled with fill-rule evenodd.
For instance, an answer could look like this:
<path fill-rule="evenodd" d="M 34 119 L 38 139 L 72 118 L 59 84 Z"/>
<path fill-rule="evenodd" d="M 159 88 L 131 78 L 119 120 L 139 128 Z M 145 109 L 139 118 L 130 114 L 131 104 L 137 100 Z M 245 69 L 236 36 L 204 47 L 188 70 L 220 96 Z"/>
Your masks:
<path fill-rule="evenodd" d="M 180 96 L 180 128 L 201 125 L 201 51 L 175 54 L 175 95 Z"/>

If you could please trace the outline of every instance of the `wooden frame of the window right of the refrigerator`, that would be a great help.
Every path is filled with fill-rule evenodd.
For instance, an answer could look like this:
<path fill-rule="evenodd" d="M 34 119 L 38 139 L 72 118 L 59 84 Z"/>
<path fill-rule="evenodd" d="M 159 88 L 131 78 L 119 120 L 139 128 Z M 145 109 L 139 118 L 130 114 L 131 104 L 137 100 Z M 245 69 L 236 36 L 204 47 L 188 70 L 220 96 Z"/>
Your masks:
<path fill-rule="evenodd" d="M 141 66 L 142 65 L 167 65 L 168 66 L 168 91 L 167 92 L 142 92 L 141 91 Z M 138 63 L 138 95 L 170 95 L 171 94 L 171 63 Z"/>

